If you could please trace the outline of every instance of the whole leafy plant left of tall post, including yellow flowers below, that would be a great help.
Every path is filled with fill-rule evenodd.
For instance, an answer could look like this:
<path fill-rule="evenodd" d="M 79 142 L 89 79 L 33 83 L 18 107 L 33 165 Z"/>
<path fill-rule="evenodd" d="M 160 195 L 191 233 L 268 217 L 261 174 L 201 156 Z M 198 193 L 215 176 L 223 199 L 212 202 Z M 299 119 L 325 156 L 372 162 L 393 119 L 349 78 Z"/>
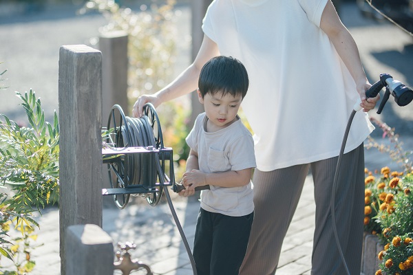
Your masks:
<path fill-rule="evenodd" d="M 17 96 L 22 100 L 30 127 L 19 126 L 6 115 L 0 119 L 0 257 L 14 263 L 14 271 L 0 274 L 27 274 L 34 267 L 30 251 L 34 247 L 34 208 L 56 203 L 59 194 L 59 122 L 45 122 L 40 99 L 33 91 Z M 34 207 L 34 208 L 33 208 Z M 21 232 L 11 239 L 10 225 Z M 23 255 L 23 257 L 21 256 Z"/>

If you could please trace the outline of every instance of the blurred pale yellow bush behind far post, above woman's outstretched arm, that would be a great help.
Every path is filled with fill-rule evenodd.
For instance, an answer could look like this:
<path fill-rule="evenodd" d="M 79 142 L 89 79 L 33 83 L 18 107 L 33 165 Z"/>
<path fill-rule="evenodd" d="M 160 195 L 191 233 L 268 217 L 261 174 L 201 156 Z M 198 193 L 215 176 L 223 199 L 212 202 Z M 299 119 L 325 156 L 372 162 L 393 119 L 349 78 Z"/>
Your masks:
<path fill-rule="evenodd" d="M 151 1 L 140 5 L 140 11 L 119 8 L 114 1 L 92 0 L 85 3 L 79 12 L 84 14 L 97 10 L 108 19 L 100 32 L 124 31 L 128 34 L 128 85 L 129 97 L 137 98 L 138 89 L 143 94 L 153 94 L 164 87 L 173 76 L 176 61 L 176 29 L 172 23 L 175 1 L 165 4 Z M 165 1 L 162 1 L 165 2 Z"/>

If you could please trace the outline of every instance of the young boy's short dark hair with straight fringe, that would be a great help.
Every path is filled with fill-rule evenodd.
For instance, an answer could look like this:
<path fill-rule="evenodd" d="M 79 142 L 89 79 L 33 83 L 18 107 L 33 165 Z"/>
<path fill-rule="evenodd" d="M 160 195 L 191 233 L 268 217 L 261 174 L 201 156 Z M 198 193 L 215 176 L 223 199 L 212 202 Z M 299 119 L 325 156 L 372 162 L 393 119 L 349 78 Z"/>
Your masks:
<path fill-rule="evenodd" d="M 222 96 L 241 94 L 244 98 L 248 83 L 248 74 L 239 60 L 232 56 L 216 56 L 202 67 L 198 88 L 202 98 L 206 94 L 213 96 L 216 93 L 222 93 Z"/>

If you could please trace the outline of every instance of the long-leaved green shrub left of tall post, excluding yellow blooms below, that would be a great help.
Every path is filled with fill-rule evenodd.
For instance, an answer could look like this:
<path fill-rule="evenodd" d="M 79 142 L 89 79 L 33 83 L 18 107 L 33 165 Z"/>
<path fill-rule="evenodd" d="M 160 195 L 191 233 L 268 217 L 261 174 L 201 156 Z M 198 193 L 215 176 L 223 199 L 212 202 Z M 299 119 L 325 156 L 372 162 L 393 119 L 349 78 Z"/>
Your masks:
<path fill-rule="evenodd" d="M 40 99 L 32 90 L 22 96 L 31 128 L 19 126 L 6 115 L 0 120 L 0 182 L 12 186 L 15 194 L 6 201 L 10 208 L 30 208 L 50 203 L 50 195 L 59 184 L 59 122 L 45 122 Z M 57 197 L 52 197 L 52 203 Z M 30 211 L 27 209 L 27 211 Z"/>

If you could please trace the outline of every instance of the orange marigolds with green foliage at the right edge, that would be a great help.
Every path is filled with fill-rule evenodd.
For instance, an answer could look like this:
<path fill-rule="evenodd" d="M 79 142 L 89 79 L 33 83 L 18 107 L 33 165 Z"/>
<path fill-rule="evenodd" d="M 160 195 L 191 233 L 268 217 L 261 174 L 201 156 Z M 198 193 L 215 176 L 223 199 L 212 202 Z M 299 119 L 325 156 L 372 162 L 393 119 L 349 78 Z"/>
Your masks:
<path fill-rule="evenodd" d="M 394 146 L 383 146 L 371 137 L 367 148 L 377 148 L 388 153 L 392 160 L 401 164 L 403 172 L 381 168 L 380 173 L 366 170 L 365 218 L 366 232 L 377 234 L 385 250 L 381 251 L 382 261 L 376 274 L 413 274 L 413 168 L 409 156 L 412 151 L 403 151 L 398 135 L 387 124 L 373 120 L 390 139 Z"/>

